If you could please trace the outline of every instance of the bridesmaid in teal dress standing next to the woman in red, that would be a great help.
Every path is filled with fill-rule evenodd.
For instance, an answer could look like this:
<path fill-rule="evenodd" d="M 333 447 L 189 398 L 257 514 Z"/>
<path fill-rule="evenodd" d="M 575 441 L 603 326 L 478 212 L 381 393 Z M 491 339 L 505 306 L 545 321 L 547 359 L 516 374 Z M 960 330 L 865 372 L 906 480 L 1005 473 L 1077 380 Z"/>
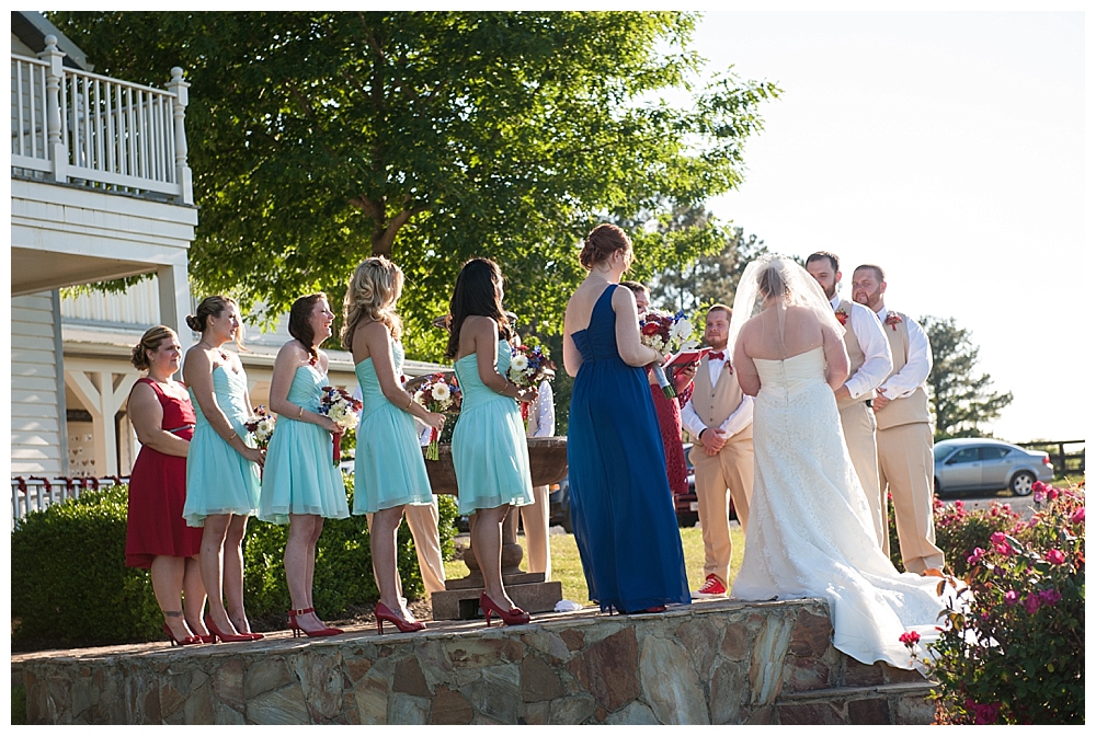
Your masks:
<path fill-rule="evenodd" d="M 209 596 L 205 624 L 226 642 L 262 639 L 252 634 L 243 610 L 243 533 L 259 506 L 259 469 L 265 453 L 252 446 L 243 423 L 251 415 L 248 376 L 229 341 L 242 346 L 236 302 L 206 297 L 186 318 L 202 340 L 186 350 L 183 379 L 194 405 L 194 437 L 186 455 L 183 518 L 203 527 L 202 583 Z M 227 605 L 227 608 L 226 608 Z"/>

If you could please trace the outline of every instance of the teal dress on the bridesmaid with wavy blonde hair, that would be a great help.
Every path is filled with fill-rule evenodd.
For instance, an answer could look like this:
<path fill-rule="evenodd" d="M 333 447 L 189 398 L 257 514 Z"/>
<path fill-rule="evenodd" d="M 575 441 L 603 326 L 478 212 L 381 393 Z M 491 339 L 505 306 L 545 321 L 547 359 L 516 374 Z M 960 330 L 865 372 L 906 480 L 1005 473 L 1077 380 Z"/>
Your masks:
<path fill-rule="evenodd" d="M 403 346 L 391 337 L 389 345 L 399 376 L 403 371 Z M 354 372 L 362 387 L 362 419 L 354 452 L 354 514 L 433 503 L 414 417 L 385 398 L 373 358 L 354 366 Z"/>

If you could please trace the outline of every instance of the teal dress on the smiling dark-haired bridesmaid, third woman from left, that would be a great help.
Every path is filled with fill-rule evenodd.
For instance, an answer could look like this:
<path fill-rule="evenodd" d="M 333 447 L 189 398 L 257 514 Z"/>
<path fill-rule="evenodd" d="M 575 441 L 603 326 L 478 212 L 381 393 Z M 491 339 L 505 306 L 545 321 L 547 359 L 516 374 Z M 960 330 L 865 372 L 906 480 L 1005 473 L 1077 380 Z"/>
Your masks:
<path fill-rule="evenodd" d="M 293 377 L 287 399 L 306 411 L 319 412 L 320 394 L 328 384 L 311 366 L 300 366 Z M 331 433 L 292 416 L 278 416 L 266 448 L 259 518 L 288 524 L 290 514 L 312 514 L 345 519 L 346 488 L 342 471 L 331 462 Z"/>

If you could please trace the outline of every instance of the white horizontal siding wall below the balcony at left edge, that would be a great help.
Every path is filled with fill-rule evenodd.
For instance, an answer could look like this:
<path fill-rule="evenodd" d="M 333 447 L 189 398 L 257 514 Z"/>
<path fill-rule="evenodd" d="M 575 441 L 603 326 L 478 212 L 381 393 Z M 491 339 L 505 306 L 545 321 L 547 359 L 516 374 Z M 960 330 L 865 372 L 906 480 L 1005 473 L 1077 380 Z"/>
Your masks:
<path fill-rule="evenodd" d="M 11 472 L 61 474 L 64 424 L 57 395 L 57 336 L 48 292 L 11 300 Z"/>

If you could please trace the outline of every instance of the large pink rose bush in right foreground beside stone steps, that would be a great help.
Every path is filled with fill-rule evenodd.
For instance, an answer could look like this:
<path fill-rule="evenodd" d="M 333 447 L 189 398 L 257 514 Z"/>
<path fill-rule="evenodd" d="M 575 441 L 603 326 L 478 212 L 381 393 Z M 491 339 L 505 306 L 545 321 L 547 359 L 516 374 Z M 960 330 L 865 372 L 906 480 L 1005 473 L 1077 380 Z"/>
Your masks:
<path fill-rule="evenodd" d="M 1084 723 L 1084 484 L 1036 486 L 1028 521 L 937 508 L 961 589 L 926 660 L 940 723 Z"/>

